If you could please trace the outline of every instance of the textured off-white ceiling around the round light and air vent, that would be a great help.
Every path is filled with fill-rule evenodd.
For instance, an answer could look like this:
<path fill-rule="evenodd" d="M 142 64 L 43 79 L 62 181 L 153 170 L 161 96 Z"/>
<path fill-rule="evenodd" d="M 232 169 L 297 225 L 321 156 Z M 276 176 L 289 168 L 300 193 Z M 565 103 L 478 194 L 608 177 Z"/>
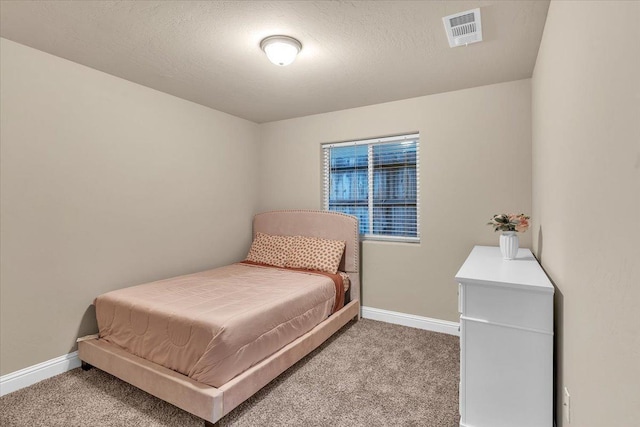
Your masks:
<path fill-rule="evenodd" d="M 480 7 L 484 41 L 442 17 Z M 262 123 L 531 77 L 548 1 L 5 1 L 0 35 Z M 260 40 L 303 49 L 271 64 Z"/>

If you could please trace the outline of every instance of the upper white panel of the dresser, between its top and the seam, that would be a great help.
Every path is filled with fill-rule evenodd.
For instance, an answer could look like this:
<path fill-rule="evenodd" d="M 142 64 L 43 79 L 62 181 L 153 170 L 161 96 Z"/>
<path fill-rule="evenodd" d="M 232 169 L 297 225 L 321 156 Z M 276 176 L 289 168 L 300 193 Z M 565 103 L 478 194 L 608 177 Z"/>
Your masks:
<path fill-rule="evenodd" d="M 521 288 L 464 284 L 463 317 L 553 333 L 553 294 Z"/>

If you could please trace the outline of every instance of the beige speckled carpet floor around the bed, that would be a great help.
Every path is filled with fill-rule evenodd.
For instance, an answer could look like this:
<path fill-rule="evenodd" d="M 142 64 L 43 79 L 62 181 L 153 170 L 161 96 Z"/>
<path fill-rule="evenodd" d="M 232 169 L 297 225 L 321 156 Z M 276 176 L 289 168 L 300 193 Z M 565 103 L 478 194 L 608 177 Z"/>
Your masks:
<path fill-rule="evenodd" d="M 455 336 L 362 319 L 220 421 L 226 426 L 458 425 Z M 98 369 L 0 398 L 0 425 L 171 426 L 204 422 Z"/>

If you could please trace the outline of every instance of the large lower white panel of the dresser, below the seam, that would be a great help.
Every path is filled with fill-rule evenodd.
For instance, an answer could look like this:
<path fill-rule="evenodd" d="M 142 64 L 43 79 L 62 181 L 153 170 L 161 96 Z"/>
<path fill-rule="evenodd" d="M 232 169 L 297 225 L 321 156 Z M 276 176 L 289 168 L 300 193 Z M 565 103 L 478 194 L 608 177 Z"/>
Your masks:
<path fill-rule="evenodd" d="M 465 331 L 461 422 L 474 427 L 552 426 L 553 337 L 461 323 Z"/>

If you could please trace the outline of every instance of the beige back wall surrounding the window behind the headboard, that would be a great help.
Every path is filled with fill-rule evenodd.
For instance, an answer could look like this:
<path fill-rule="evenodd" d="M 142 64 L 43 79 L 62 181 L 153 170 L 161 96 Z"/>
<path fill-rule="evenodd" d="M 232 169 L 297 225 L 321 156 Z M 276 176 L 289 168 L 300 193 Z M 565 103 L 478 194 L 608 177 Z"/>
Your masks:
<path fill-rule="evenodd" d="M 474 245 L 497 245 L 486 222 L 531 211 L 530 80 L 263 124 L 259 208 L 321 207 L 321 143 L 413 131 L 422 240 L 363 244 L 363 304 L 457 321 L 455 273 Z"/>

